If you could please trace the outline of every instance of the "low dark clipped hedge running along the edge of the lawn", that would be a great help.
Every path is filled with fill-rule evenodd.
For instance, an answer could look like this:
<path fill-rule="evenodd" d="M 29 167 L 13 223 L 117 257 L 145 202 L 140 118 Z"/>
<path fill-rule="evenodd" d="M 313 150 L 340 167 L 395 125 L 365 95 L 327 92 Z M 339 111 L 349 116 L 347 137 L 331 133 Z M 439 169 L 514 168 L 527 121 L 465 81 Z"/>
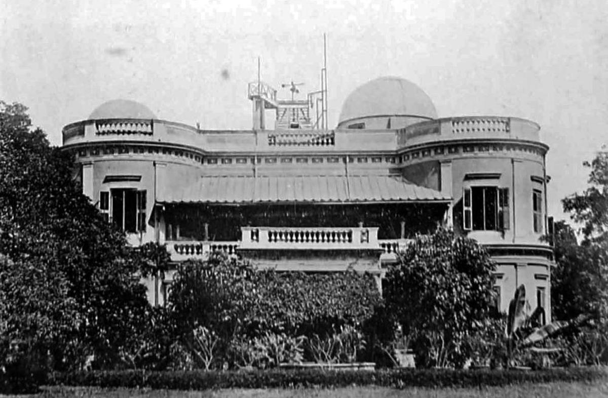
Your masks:
<path fill-rule="evenodd" d="M 274 369 L 267 371 L 90 371 L 54 374 L 52 385 L 155 388 L 293 388 L 377 385 L 404 388 L 502 386 L 519 383 L 592 382 L 608 379 L 606 368 L 560 368 L 537 371 L 382 369 L 378 371 L 327 371 Z"/>

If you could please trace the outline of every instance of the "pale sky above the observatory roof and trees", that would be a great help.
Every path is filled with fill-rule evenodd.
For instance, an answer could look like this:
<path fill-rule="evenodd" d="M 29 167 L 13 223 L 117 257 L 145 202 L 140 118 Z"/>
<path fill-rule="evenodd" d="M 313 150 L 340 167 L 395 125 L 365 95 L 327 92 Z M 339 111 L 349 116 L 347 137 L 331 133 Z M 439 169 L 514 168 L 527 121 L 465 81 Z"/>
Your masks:
<path fill-rule="evenodd" d="M 104 101 L 158 118 L 250 129 L 247 82 L 319 88 L 328 37 L 329 126 L 348 94 L 384 75 L 418 84 L 440 117 L 502 115 L 541 125 L 549 213 L 586 187 L 608 143 L 608 2 L 0 0 L 0 99 L 61 128 Z M 289 94 L 283 92 L 284 95 Z"/>

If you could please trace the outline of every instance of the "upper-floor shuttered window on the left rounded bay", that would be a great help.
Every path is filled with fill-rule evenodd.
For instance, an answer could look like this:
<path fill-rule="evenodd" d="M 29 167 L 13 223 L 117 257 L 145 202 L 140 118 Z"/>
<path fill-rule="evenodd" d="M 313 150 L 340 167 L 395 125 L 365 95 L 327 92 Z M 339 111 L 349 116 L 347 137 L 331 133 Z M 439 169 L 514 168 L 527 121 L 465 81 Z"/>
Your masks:
<path fill-rule="evenodd" d="M 112 222 L 126 232 L 145 232 L 146 191 L 127 188 L 110 193 Z"/>

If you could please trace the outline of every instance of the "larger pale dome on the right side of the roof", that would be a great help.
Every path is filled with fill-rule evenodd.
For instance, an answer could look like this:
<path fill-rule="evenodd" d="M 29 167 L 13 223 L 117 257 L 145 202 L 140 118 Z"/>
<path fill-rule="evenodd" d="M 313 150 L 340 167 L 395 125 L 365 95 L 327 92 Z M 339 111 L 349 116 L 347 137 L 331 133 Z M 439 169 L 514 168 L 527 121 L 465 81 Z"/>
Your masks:
<path fill-rule="evenodd" d="M 379 77 L 357 87 L 344 101 L 338 124 L 362 117 L 401 115 L 435 119 L 429 96 L 399 77 Z"/>

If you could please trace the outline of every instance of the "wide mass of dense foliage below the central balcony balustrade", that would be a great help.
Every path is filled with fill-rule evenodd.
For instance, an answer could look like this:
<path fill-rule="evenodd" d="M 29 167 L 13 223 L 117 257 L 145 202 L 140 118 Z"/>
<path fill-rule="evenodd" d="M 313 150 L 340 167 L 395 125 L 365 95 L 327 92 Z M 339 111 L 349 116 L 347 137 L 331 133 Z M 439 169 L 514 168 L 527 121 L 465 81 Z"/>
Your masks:
<path fill-rule="evenodd" d="M 370 275 L 258 271 L 241 260 L 211 256 L 178 267 L 169 306 L 184 332 L 202 325 L 226 337 L 255 337 L 267 331 L 325 334 L 359 324 L 380 300 Z"/>

